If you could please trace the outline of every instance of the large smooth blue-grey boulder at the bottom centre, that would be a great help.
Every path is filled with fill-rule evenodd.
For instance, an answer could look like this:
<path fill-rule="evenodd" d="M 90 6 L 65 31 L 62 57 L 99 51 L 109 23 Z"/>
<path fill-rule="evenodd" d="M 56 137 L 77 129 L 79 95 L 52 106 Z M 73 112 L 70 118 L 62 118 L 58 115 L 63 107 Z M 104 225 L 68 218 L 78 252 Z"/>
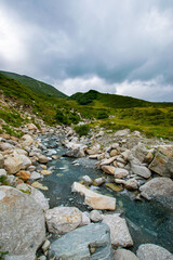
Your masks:
<path fill-rule="evenodd" d="M 112 260 L 109 227 L 89 224 L 77 229 L 51 245 L 50 258 L 72 260 Z"/>

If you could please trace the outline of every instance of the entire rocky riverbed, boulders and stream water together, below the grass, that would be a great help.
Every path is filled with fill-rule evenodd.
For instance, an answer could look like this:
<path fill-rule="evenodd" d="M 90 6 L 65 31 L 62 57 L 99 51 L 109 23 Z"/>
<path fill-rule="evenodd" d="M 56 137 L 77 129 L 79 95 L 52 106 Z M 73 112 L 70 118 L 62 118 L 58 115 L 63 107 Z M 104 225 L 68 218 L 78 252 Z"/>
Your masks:
<path fill-rule="evenodd" d="M 129 129 L 79 139 L 43 122 L 23 131 L 0 138 L 1 257 L 173 259 L 171 142 Z"/>

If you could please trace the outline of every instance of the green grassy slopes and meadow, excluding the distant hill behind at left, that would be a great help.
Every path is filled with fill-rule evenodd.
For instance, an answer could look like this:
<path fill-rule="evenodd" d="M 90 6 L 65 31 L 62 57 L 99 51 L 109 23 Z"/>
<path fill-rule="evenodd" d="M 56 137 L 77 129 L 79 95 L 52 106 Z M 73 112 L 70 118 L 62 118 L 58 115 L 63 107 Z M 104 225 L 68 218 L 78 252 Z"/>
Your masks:
<path fill-rule="evenodd" d="M 94 121 L 93 127 L 99 125 L 107 130 L 128 127 L 149 135 L 162 138 L 173 135 L 173 103 L 149 103 L 129 96 L 102 94 L 96 91 L 85 93 L 86 99 L 85 94 L 82 93 L 75 94 L 76 100 L 53 98 L 34 91 L 2 74 L 0 74 L 0 90 L 3 91 L 5 96 L 15 99 L 18 106 L 23 103 L 26 107 L 30 107 L 35 114 L 42 117 L 50 125 L 57 122 L 55 118 L 57 109 L 63 109 L 65 115 L 69 117 L 72 108 L 80 112 L 85 118 L 98 118 L 98 114 L 103 112 L 109 116 L 112 115 L 110 118 Z M 77 102 L 79 95 L 82 101 L 86 101 L 86 105 L 80 105 Z M 0 118 L 3 119 L 3 117 L 6 117 L 6 115 L 0 115 Z"/>

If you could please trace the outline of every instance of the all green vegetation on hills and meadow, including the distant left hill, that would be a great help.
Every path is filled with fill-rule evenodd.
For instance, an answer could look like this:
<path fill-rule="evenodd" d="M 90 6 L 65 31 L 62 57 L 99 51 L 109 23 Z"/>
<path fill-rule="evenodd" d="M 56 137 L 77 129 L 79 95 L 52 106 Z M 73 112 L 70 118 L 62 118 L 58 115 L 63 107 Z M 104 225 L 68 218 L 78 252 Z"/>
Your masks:
<path fill-rule="evenodd" d="M 172 139 L 173 103 L 152 103 L 95 90 L 78 92 L 68 98 L 52 88 L 26 76 L 0 73 L 0 94 L 4 100 L 15 103 L 12 109 L 1 105 L 0 118 L 4 123 L 0 131 L 19 136 L 22 133 L 15 128 L 27 122 L 22 116 L 22 112 L 27 110 L 50 126 L 75 125 L 80 136 L 86 134 L 90 128 L 88 125 L 77 125 L 86 119 L 90 120 L 90 127 L 98 125 L 112 131 L 130 128 L 149 136 Z M 54 91 L 57 91 L 56 94 L 51 95 Z"/>

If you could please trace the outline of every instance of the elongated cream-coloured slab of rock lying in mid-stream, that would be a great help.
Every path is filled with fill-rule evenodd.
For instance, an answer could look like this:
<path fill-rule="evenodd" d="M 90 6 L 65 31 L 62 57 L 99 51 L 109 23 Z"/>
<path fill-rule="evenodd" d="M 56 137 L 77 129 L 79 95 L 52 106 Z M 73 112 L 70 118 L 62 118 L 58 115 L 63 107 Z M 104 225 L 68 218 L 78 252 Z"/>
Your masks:
<path fill-rule="evenodd" d="M 116 209 L 116 198 L 108 197 L 90 191 L 84 185 L 74 182 L 71 186 L 71 192 L 78 192 L 84 196 L 84 203 L 92 207 L 93 209 Z"/>

